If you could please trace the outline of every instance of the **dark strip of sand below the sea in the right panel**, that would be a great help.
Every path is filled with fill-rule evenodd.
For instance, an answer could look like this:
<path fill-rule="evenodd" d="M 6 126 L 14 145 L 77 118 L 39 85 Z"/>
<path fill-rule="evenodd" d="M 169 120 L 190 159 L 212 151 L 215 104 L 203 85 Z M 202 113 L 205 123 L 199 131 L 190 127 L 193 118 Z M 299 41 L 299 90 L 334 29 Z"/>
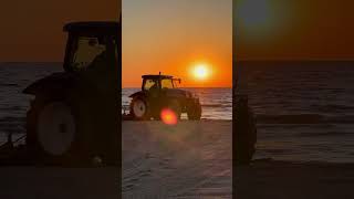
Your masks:
<path fill-rule="evenodd" d="M 238 199 L 354 198 L 354 164 L 264 160 L 236 172 Z"/>

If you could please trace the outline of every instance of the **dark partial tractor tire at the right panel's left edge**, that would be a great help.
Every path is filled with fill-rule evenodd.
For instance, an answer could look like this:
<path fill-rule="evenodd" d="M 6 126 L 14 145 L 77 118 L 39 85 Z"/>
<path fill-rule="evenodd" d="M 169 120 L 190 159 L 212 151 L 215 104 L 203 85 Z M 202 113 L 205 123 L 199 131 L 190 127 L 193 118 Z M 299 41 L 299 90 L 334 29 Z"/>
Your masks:
<path fill-rule="evenodd" d="M 246 97 L 237 102 L 235 117 L 235 160 L 237 165 L 248 165 L 252 160 L 256 151 L 257 126 L 256 118 L 248 106 L 248 100 Z"/>

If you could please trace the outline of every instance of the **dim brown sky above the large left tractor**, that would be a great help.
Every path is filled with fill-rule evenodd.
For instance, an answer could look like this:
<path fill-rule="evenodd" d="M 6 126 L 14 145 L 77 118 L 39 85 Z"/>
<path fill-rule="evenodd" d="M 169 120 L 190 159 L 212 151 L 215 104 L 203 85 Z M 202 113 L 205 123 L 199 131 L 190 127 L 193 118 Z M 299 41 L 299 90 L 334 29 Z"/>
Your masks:
<path fill-rule="evenodd" d="M 11 0 L 0 7 L 0 62 L 62 62 L 71 21 L 116 21 L 121 0 Z"/>

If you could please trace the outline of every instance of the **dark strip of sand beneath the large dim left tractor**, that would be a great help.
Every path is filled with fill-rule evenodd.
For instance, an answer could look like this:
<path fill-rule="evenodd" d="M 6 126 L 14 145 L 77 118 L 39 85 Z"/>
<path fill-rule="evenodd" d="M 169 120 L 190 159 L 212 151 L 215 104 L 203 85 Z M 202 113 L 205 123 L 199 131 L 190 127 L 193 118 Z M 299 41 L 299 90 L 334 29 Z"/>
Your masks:
<path fill-rule="evenodd" d="M 1 167 L 1 199 L 116 199 L 117 168 Z"/>

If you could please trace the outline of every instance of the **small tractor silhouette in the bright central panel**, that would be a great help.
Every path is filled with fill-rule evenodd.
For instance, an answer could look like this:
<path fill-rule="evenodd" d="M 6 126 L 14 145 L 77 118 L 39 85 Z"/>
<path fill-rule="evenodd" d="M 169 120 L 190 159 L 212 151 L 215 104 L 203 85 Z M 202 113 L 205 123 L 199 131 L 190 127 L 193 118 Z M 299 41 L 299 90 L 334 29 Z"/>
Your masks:
<path fill-rule="evenodd" d="M 199 121 L 201 106 L 191 92 L 177 88 L 180 78 L 169 75 L 143 75 L 142 91 L 134 93 L 129 106 L 133 119 L 159 119 L 164 108 L 171 109 L 177 118 L 187 113 L 188 119 Z"/>

